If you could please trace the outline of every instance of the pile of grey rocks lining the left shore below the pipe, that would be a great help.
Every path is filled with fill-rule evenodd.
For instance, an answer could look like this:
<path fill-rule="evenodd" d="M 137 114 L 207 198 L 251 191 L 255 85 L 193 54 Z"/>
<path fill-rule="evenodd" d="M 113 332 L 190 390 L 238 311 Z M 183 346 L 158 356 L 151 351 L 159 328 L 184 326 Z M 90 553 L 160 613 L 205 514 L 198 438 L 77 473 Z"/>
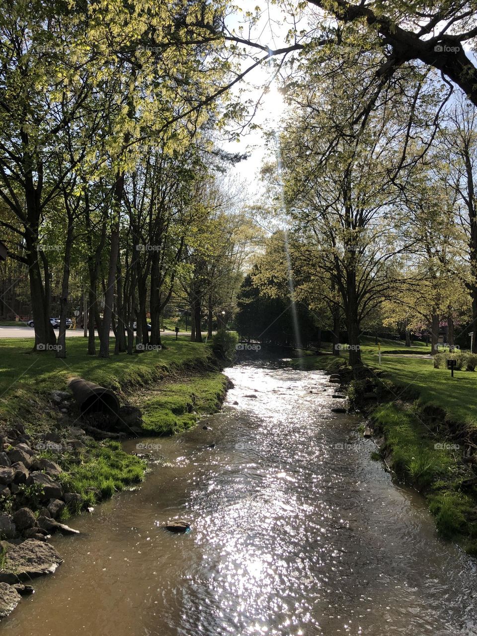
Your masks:
<path fill-rule="evenodd" d="M 225 395 L 226 389 L 222 400 Z M 92 511 L 92 502 L 114 492 L 114 488 L 105 493 L 93 487 L 75 492 L 70 479 L 75 467 L 94 460 L 95 453 L 106 448 L 111 464 L 123 455 L 141 465 L 142 475 L 146 468 L 147 458 L 141 459 L 141 453 L 132 457 L 117 444 L 117 448 L 107 446 L 111 439 L 150 435 L 141 427 L 137 406 L 121 406 L 112 427 L 100 413 L 81 416 L 69 392 L 52 391 L 49 397 L 46 410 L 57 416 L 52 430 L 43 432 L 33 425 L 27 431 L 19 422 L 0 429 L 0 621 L 17 607 L 22 595 L 34 592 L 26 582 L 55 572 L 63 562 L 48 543 L 52 534 L 79 534 L 64 521 L 86 509 Z M 129 476 L 128 467 L 124 473 L 124 483 L 137 481 Z"/>

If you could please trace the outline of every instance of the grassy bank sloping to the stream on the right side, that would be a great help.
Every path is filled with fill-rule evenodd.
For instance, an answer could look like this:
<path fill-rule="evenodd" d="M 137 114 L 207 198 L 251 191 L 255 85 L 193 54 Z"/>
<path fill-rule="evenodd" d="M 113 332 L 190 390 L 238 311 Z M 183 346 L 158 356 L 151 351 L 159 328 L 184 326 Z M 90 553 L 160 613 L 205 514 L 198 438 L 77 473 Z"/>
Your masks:
<path fill-rule="evenodd" d="M 477 434 L 477 373 L 435 369 L 430 352 L 418 345 L 411 356 L 404 343 L 378 347 L 365 339 L 361 355 L 368 372 L 350 382 L 351 403 L 373 422 L 384 459 L 398 480 L 416 488 L 427 499 L 439 534 L 457 541 L 477 555 L 477 488 L 469 480 L 476 462 L 464 453 Z M 406 348 L 408 349 L 408 348 Z M 338 360 L 310 356 L 305 368 L 345 372 L 347 354 Z M 298 361 L 293 361 L 297 366 Z M 364 394 L 377 399 L 364 399 Z"/>

